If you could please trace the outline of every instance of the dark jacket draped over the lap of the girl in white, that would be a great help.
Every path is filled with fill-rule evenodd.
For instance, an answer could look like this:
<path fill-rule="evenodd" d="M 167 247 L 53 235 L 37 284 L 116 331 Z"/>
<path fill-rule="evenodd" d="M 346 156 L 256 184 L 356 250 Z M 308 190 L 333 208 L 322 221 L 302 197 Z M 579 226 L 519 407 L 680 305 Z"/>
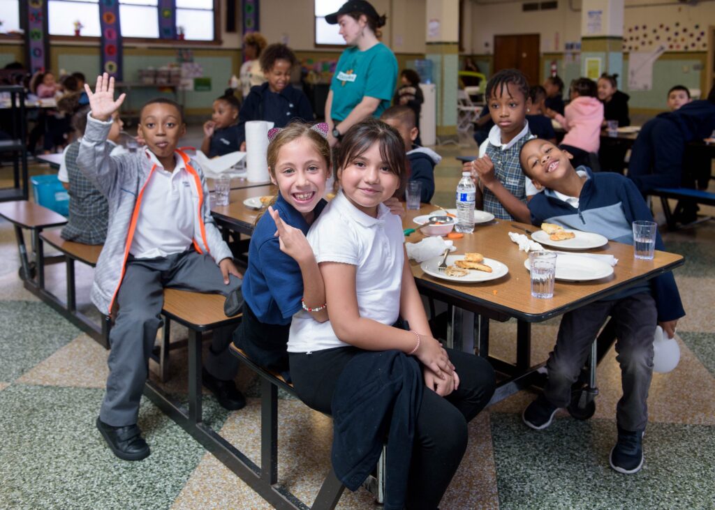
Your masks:
<path fill-rule="evenodd" d="M 375 468 L 387 437 L 387 510 L 405 506 L 424 386 L 412 356 L 365 351 L 345 366 L 332 396 L 332 467 L 348 489 L 358 489 Z"/>

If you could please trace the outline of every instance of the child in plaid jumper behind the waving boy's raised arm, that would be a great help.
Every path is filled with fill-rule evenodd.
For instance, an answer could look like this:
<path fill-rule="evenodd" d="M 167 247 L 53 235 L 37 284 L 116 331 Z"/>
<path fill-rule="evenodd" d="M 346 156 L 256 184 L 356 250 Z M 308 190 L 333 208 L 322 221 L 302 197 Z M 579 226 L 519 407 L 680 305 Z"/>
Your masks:
<path fill-rule="evenodd" d="M 72 116 L 72 125 L 78 138 L 64 149 L 57 173 L 57 179 L 64 189 L 69 191 L 69 217 L 60 235 L 67 241 L 104 244 L 109 221 L 107 198 L 84 176 L 77 165 L 79 144 L 87 128 L 87 114 L 89 114 L 89 105 L 80 108 Z M 124 147 L 117 145 L 123 125 L 122 119 L 119 119 L 119 112 L 115 111 L 112 114 L 112 127 L 107 134 L 107 144 L 113 146 L 110 156 L 116 157 L 128 152 Z"/>

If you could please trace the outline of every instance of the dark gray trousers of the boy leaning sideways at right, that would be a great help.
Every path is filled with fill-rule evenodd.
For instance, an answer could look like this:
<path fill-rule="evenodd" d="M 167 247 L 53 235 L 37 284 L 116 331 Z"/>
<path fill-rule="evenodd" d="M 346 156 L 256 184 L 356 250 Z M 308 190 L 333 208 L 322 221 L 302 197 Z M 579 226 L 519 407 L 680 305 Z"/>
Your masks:
<path fill-rule="evenodd" d="M 623 299 L 596 301 L 564 314 L 556 346 L 548 356 L 548 382 L 543 390 L 554 406 L 566 407 L 571 384 L 591 352 L 591 344 L 608 316 L 616 322 L 616 361 L 621 365 L 623 396 L 616 423 L 627 431 L 644 431 L 648 423 L 648 390 L 653 376 L 653 339 L 658 313 L 648 292 Z"/>

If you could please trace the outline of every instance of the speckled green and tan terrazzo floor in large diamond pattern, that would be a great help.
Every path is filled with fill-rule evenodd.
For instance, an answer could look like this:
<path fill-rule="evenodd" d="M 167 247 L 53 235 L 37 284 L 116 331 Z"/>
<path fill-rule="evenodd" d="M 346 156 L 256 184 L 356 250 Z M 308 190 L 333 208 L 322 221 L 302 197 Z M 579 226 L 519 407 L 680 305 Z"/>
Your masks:
<path fill-rule="evenodd" d="M 459 177 L 454 156 L 473 149 L 437 150 L 444 159 L 435 171 L 433 202 L 448 206 Z M 33 166 L 31 174 L 46 171 Z M 655 209 L 662 219 L 659 206 Z M 715 209 L 701 212 L 715 214 Z M 598 367 L 601 393 L 588 421 L 560 411 L 549 429 L 532 431 L 521 421 L 523 407 L 534 398 L 528 391 L 478 416 L 440 508 L 715 509 L 715 221 L 665 232 L 664 239 L 669 251 L 687 257 L 676 280 L 688 315 L 678 327 L 679 366 L 654 375 L 644 469 L 623 476 L 608 467 L 621 391 L 611 350 Z M 94 428 L 107 351 L 23 288 L 14 233 L 2 220 L 0 260 L 0 509 L 270 508 L 147 399 L 139 425 L 152 455 L 137 463 L 114 458 Z M 92 270 L 80 268 L 77 275 L 80 306 L 90 311 Z M 47 281 L 61 295 L 64 268 L 52 266 Z M 533 327 L 533 360 L 546 359 L 557 329 L 558 319 Z M 172 335 L 185 331 L 174 327 Z M 516 323 L 492 323 L 495 354 L 513 359 L 515 336 Z M 186 387 L 185 354 L 172 351 L 169 391 Z M 258 462 L 257 384 L 246 371 L 237 383 L 249 396 L 245 409 L 228 413 L 206 395 L 204 417 Z M 279 416 L 280 481 L 310 502 L 330 459 L 330 420 L 293 399 L 280 401 Z M 374 506 L 360 489 L 346 491 L 338 508 Z"/>

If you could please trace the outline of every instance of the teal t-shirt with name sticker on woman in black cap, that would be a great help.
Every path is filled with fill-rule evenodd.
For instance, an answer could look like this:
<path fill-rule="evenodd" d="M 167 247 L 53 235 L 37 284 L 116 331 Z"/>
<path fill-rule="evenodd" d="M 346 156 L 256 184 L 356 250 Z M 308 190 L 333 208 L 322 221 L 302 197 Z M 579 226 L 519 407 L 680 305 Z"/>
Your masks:
<path fill-rule="evenodd" d="M 342 121 L 368 96 L 382 100 L 373 113 L 379 117 L 390 107 L 397 81 L 398 59 L 388 46 L 378 43 L 366 51 L 360 51 L 357 46 L 346 49 L 337 61 L 330 83 L 330 116 Z"/>

